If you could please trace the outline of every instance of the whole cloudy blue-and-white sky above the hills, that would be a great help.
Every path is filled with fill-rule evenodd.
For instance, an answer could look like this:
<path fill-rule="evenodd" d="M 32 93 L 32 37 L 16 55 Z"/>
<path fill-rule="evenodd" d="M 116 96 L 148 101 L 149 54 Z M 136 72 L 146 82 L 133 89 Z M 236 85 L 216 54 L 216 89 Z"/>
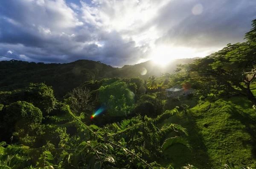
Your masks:
<path fill-rule="evenodd" d="M 0 0 L 0 61 L 122 67 L 244 42 L 256 0 Z"/>

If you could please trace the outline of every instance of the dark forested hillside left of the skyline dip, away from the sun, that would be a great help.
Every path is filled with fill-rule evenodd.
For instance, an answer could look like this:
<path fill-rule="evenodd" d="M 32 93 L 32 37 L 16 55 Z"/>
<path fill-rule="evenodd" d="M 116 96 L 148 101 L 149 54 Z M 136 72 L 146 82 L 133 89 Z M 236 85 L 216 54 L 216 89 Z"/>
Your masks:
<path fill-rule="evenodd" d="M 87 80 L 97 80 L 110 75 L 116 68 L 100 62 L 78 60 L 67 64 L 44 64 L 17 60 L 0 62 L 0 89 L 14 90 L 29 83 L 43 82 L 53 87 L 57 96 L 64 96 Z"/>

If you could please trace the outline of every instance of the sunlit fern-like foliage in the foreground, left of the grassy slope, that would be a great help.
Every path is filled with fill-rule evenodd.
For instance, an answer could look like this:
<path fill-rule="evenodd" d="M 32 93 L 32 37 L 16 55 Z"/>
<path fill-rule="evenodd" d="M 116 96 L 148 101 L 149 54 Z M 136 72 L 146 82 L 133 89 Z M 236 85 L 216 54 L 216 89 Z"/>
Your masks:
<path fill-rule="evenodd" d="M 159 164 L 153 162 L 152 158 L 161 156 L 163 151 L 159 149 L 163 144 L 161 140 L 166 138 L 168 133 L 178 130 L 175 125 L 170 125 L 168 130 L 166 128 L 159 130 L 155 126 L 163 121 L 163 118 L 175 115 L 177 110 L 168 111 L 155 119 L 136 117 L 123 120 L 120 124 L 109 124 L 103 128 L 94 125 L 87 126 L 79 116 L 71 112 L 69 106 L 66 107 L 66 110 L 77 127 L 76 135 L 70 138 L 65 136 L 66 139 L 60 142 L 59 148 L 55 148 L 49 142 L 41 148 L 14 145 L 4 148 L 4 144 L 1 144 L 1 162 L 7 158 L 7 155 L 15 157 L 17 153 L 19 153 L 18 156 L 16 155 L 17 157 L 25 159 L 18 161 L 16 158 L 12 158 L 13 163 L 8 164 L 7 160 L 2 163 L 3 166 L 14 167 L 17 164 L 31 168 L 75 167 L 88 169 L 159 167 Z M 177 140 L 175 143 L 183 144 L 181 140 Z M 166 146 L 166 142 L 164 146 Z M 143 158 L 152 162 L 148 163 Z M 33 159 L 38 160 L 34 161 Z"/>

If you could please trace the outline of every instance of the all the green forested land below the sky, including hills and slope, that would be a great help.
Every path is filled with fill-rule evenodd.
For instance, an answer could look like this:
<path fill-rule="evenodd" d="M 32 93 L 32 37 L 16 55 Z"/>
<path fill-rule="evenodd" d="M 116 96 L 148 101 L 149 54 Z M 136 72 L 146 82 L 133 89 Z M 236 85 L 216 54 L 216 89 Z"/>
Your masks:
<path fill-rule="evenodd" d="M 165 68 L 1 61 L 0 169 L 256 168 L 252 26 Z"/>

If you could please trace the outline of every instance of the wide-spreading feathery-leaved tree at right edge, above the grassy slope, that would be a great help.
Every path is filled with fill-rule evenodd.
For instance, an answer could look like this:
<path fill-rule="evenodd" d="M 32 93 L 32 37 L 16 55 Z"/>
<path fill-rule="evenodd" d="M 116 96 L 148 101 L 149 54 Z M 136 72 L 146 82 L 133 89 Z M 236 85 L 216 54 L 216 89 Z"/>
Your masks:
<path fill-rule="evenodd" d="M 199 86 L 201 94 L 207 96 L 224 90 L 227 94 L 246 96 L 256 104 L 250 90 L 256 76 L 256 20 L 253 20 L 253 29 L 245 39 L 244 43 L 228 44 L 214 56 L 196 59 L 190 65 L 190 73 L 196 73 L 196 76 L 190 76 L 190 80 Z"/>

